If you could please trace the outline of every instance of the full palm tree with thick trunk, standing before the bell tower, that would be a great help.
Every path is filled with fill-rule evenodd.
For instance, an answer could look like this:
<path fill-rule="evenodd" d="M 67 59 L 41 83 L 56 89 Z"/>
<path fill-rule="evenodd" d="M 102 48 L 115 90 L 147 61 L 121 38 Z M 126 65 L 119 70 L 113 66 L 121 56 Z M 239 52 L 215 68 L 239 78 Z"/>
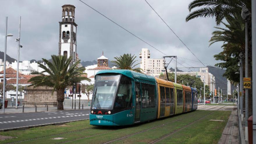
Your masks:
<path fill-rule="evenodd" d="M 39 67 L 44 69 L 42 72 L 34 72 L 33 74 L 38 74 L 38 76 L 32 77 L 29 82 L 31 86 L 49 86 L 57 91 L 57 102 L 58 110 L 63 110 L 64 101 L 64 91 L 68 86 L 72 86 L 74 83 L 79 83 L 82 80 L 90 79 L 84 76 L 84 67 L 77 67 L 80 60 L 70 65 L 72 57 L 67 58 L 66 56 L 56 56 L 52 55 L 52 62 L 42 58 L 42 60 L 47 64 L 47 66 L 38 63 Z"/>

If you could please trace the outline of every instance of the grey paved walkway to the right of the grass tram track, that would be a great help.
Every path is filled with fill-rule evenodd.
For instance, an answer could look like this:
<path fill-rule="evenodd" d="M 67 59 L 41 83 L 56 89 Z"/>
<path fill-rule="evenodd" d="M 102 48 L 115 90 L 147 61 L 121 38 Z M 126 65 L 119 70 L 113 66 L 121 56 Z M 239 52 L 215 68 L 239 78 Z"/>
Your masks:
<path fill-rule="evenodd" d="M 234 107 L 227 121 L 221 139 L 218 144 L 239 143 L 238 115 L 237 108 Z"/>

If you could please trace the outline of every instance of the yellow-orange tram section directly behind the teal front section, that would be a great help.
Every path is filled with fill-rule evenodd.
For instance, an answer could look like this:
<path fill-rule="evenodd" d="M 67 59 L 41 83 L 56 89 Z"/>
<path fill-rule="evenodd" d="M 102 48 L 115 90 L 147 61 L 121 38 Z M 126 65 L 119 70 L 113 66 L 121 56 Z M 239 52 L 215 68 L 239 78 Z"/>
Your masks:
<path fill-rule="evenodd" d="M 155 79 L 157 80 L 158 89 L 157 118 L 173 115 L 175 108 L 174 84 L 163 79 Z"/>

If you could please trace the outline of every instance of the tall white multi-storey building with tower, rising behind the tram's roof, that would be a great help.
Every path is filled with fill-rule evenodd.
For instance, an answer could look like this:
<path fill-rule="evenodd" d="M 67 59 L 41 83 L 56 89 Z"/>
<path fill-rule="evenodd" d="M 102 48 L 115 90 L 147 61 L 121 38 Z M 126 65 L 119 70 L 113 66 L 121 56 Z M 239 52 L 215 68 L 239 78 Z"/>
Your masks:
<path fill-rule="evenodd" d="M 150 58 L 149 49 L 143 48 L 140 51 L 141 66 L 145 74 L 159 76 L 164 69 L 164 59 L 163 58 Z"/>

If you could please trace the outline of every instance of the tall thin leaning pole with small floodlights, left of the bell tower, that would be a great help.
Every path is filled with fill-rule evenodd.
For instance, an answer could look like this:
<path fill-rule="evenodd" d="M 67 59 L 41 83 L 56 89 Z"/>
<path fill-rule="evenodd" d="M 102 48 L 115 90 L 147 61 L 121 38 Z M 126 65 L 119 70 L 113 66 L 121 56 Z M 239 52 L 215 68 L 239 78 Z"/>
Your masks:
<path fill-rule="evenodd" d="M 19 88 L 19 48 L 22 47 L 20 45 L 20 24 L 21 24 L 21 16 L 19 16 L 19 38 L 16 39 L 16 41 L 18 42 L 18 58 L 17 58 L 17 73 L 16 73 L 16 105 L 15 105 L 15 109 L 18 109 L 18 88 Z"/>

